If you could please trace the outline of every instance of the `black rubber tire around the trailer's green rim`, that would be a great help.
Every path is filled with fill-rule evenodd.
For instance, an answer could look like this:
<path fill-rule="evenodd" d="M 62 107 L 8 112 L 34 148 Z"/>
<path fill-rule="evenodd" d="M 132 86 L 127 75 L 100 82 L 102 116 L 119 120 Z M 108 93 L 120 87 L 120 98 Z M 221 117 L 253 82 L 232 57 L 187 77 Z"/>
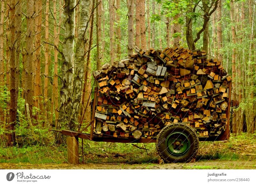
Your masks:
<path fill-rule="evenodd" d="M 171 136 L 171 134 L 175 132 L 182 133 L 184 136 L 187 137 L 190 142 L 188 149 L 181 156 L 175 156 L 171 152 L 169 152 L 168 146 L 166 144 L 166 138 L 168 138 L 168 136 Z M 156 139 L 156 148 L 160 157 L 166 163 L 189 162 L 196 156 L 199 148 L 199 139 L 196 131 L 190 126 L 184 123 L 173 123 L 171 125 L 165 126 L 159 132 Z"/>

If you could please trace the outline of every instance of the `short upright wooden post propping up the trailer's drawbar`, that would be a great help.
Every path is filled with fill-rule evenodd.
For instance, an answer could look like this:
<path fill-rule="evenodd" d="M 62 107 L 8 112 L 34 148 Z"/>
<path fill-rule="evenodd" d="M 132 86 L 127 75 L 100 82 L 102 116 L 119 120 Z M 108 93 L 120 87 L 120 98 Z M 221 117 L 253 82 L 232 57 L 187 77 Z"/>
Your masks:
<path fill-rule="evenodd" d="M 68 162 L 79 164 L 78 137 L 67 137 Z"/>

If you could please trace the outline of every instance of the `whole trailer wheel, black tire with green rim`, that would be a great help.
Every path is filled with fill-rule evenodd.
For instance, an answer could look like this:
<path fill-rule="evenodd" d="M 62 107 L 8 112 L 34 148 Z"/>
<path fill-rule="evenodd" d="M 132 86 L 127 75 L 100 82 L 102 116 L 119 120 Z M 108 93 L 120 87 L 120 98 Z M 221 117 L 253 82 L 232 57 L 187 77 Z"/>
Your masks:
<path fill-rule="evenodd" d="M 165 126 L 156 139 L 157 152 L 164 162 L 189 162 L 199 148 L 196 131 L 184 123 Z"/>

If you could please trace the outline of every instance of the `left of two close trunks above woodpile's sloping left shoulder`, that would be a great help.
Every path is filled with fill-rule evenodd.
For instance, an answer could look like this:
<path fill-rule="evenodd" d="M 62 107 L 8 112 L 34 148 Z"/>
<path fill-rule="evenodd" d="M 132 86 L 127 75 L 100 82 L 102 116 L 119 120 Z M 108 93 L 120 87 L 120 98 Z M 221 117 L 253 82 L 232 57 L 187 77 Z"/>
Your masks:
<path fill-rule="evenodd" d="M 115 0 L 108 0 L 108 11 L 109 11 L 109 48 L 110 48 L 110 63 L 113 64 L 115 61 L 115 48 L 114 48 L 114 6 Z"/>

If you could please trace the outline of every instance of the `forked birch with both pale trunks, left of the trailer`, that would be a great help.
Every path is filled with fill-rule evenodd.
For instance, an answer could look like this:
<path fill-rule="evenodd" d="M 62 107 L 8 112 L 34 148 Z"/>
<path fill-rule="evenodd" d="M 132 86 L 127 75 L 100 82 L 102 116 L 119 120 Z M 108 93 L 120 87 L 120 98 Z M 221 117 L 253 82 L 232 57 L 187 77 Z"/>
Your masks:
<path fill-rule="evenodd" d="M 58 126 L 76 130 L 77 118 L 83 90 L 84 55 L 86 44 L 86 25 L 89 18 L 89 0 L 80 1 L 80 27 L 74 48 L 74 8 L 75 0 L 65 0 L 64 5 L 64 28 L 65 39 L 63 42 L 62 80 L 60 91 L 60 116 Z M 74 74 L 74 75 L 73 75 Z M 57 136 L 58 137 L 58 136 Z M 58 138 L 57 138 L 58 139 Z"/>

